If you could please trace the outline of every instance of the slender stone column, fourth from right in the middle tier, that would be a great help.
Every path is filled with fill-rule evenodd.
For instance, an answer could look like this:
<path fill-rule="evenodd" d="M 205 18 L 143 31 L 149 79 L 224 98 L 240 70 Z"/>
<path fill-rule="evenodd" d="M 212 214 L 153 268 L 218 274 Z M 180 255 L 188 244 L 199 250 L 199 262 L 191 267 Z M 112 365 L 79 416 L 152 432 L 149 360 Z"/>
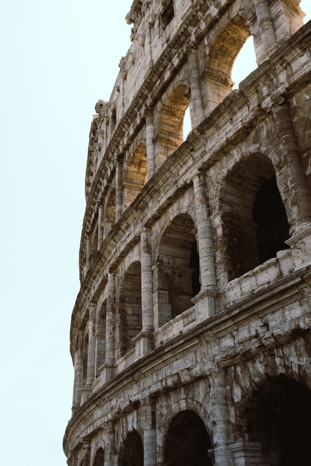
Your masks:
<path fill-rule="evenodd" d="M 109 382 L 111 379 L 112 366 L 115 363 L 115 302 L 116 276 L 113 269 L 109 269 L 106 309 L 106 360 L 101 372 L 101 380 L 103 384 Z"/>

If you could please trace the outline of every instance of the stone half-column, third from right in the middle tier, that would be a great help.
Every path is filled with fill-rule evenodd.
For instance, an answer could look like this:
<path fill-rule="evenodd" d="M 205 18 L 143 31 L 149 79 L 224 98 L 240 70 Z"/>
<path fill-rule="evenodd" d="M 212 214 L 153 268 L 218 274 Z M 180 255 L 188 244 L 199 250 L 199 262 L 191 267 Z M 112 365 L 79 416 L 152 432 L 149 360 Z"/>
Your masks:
<path fill-rule="evenodd" d="M 141 308 L 143 332 L 153 331 L 151 231 L 143 229 L 141 244 Z"/>

